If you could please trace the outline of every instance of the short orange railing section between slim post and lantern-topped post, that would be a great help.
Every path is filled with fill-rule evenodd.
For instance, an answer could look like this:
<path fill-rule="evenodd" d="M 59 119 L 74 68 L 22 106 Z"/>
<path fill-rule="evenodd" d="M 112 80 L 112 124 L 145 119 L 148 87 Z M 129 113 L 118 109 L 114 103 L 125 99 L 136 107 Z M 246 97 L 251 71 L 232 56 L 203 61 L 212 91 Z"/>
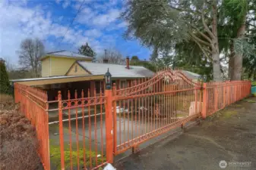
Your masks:
<path fill-rule="evenodd" d="M 58 100 L 49 104 L 58 104 L 57 111 L 59 138 L 54 138 L 50 150 L 57 150 L 59 156 L 52 156 L 52 168 L 57 169 L 95 169 L 106 162 L 106 97 L 103 91 L 94 97 L 84 97 L 85 91 L 68 91 L 68 99 L 58 91 Z M 74 95 L 72 95 L 74 94 Z M 87 91 L 90 96 L 90 89 Z M 74 96 L 74 98 L 71 98 Z M 112 122 L 112 120 L 111 120 Z M 111 123 L 109 122 L 109 123 Z M 50 137 L 51 138 L 51 137 Z M 59 159 L 55 159 L 58 157 Z"/>

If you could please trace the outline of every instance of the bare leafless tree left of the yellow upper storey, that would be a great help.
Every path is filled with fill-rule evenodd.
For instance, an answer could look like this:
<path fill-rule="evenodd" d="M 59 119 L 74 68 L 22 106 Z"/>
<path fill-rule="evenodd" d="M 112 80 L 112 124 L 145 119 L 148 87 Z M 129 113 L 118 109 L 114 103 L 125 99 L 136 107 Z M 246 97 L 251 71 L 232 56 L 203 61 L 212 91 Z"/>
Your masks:
<path fill-rule="evenodd" d="M 40 76 L 40 57 L 44 54 L 44 45 L 40 39 L 24 39 L 21 42 L 19 63 L 26 70 L 32 70 L 33 77 Z"/>

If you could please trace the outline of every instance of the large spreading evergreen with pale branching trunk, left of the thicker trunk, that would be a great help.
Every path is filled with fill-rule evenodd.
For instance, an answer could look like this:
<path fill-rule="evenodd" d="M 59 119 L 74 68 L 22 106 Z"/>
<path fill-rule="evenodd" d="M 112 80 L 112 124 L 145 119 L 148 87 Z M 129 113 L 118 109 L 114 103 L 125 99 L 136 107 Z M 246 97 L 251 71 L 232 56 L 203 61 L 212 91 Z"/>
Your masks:
<path fill-rule="evenodd" d="M 137 38 L 153 48 L 151 60 L 176 44 L 193 41 L 213 65 L 213 79 L 220 81 L 217 0 L 129 0 L 122 18 L 128 21 L 127 38 Z"/>

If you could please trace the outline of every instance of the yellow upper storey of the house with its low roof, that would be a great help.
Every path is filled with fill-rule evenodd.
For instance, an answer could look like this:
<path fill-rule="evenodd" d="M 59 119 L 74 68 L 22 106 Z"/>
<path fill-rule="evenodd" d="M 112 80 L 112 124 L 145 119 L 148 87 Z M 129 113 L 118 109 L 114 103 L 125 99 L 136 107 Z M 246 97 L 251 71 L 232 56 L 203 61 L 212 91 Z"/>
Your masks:
<path fill-rule="evenodd" d="M 92 62 L 93 57 L 62 50 L 47 53 L 40 60 L 42 62 L 42 77 L 51 77 L 64 76 L 74 61 Z"/>

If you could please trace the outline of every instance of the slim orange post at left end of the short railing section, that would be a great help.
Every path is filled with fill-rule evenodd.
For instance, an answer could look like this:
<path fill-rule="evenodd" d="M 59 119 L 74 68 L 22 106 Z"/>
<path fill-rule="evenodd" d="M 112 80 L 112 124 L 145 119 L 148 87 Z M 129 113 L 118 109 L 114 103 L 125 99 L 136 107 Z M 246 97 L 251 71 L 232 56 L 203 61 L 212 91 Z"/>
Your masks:
<path fill-rule="evenodd" d="M 65 159 L 64 159 L 64 139 L 63 139 L 63 122 L 62 122 L 62 92 L 58 91 L 58 133 L 59 133 L 59 145 L 61 150 L 61 168 L 65 169 Z"/>

